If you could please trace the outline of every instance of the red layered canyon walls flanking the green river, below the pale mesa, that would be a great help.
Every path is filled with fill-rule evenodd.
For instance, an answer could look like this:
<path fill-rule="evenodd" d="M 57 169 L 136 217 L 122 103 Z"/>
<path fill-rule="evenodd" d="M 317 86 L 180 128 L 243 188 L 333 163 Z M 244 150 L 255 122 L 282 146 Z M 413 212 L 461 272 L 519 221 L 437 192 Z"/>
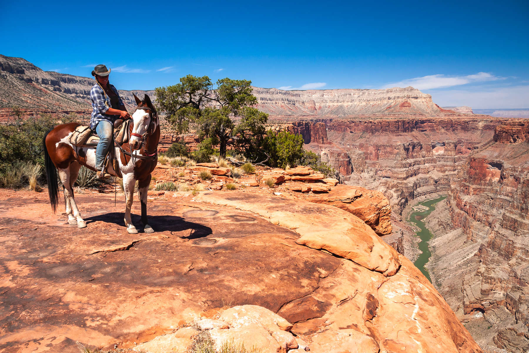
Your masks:
<path fill-rule="evenodd" d="M 448 194 L 445 213 L 431 225 L 446 233 L 436 240 L 430 267 L 437 288 L 461 320 L 470 320 L 480 343 L 527 349 L 529 120 L 379 117 L 285 127 L 329 160 L 342 182 L 384 192 L 393 241 L 410 258 L 416 256 L 406 243 L 410 230 L 401 223 L 407 205 Z"/>

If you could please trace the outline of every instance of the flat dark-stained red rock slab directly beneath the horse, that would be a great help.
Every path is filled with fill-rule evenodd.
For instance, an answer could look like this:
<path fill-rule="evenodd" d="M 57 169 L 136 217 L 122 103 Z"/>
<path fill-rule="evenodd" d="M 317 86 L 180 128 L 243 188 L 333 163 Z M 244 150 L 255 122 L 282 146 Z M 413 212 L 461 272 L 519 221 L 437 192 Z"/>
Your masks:
<path fill-rule="evenodd" d="M 232 208 L 148 202 L 156 232 L 128 234 L 113 195 L 76 195 L 88 224 L 78 229 L 51 214 L 44 193 L 9 193 L 0 191 L 2 352 L 128 347 L 230 302 L 277 312 L 339 266 Z"/>

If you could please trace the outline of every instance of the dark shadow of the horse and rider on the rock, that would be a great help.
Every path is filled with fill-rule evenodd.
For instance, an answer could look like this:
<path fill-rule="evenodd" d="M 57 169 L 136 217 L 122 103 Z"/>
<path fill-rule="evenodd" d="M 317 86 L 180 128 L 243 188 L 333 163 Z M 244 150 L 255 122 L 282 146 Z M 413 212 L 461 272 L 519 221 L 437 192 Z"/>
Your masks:
<path fill-rule="evenodd" d="M 132 224 L 138 226 L 138 231 L 141 233 L 141 216 L 131 214 Z M 114 223 L 121 227 L 125 227 L 125 221 L 123 220 L 123 212 L 111 212 L 98 214 L 85 219 L 86 224 L 93 222 L 105 222 Z M 213 233 L 212 229 L 204 224 L 188 222 L 182 217 L 178 216 L 149 216 L 149 225 L 154 229 L 154 232 L 170 232 L 172 235 L 186 238 L 186 239 L 197 239 L 204 238 Z M 185 236 L 184 231 L 189 230 L 189 234 Z"/>

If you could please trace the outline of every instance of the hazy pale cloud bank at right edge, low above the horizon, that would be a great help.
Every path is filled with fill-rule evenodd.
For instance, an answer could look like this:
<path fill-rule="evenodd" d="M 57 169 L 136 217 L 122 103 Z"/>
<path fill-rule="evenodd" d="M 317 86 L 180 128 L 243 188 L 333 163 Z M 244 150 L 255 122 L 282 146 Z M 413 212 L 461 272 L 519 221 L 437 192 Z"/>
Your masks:
<path fill-rule="evenodd" d="M 431 94 L 432 100 L 440 106 L 467 105 L 476 109 L 529 108 L 529 85 L 478 87 L 476 90 L 436 90 L 426 93 Z"/>

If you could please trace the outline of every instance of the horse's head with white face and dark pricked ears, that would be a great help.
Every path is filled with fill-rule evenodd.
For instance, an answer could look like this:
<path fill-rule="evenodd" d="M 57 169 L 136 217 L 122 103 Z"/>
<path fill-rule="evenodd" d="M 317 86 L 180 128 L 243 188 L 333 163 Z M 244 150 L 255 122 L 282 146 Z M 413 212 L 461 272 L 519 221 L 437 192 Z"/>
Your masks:
<path fill-rule="evenodd" d="M 145 95 L 142 101 L 134 94 L 134 99 L 138 106 L 134 114 L 132 114 L 134 126 L 129 144 L 133 150 L 138 150 L 148 135 L 154 133 L 159 123 L 156 108 L 152 105 L 151 98 L 148 95 Z"/>

